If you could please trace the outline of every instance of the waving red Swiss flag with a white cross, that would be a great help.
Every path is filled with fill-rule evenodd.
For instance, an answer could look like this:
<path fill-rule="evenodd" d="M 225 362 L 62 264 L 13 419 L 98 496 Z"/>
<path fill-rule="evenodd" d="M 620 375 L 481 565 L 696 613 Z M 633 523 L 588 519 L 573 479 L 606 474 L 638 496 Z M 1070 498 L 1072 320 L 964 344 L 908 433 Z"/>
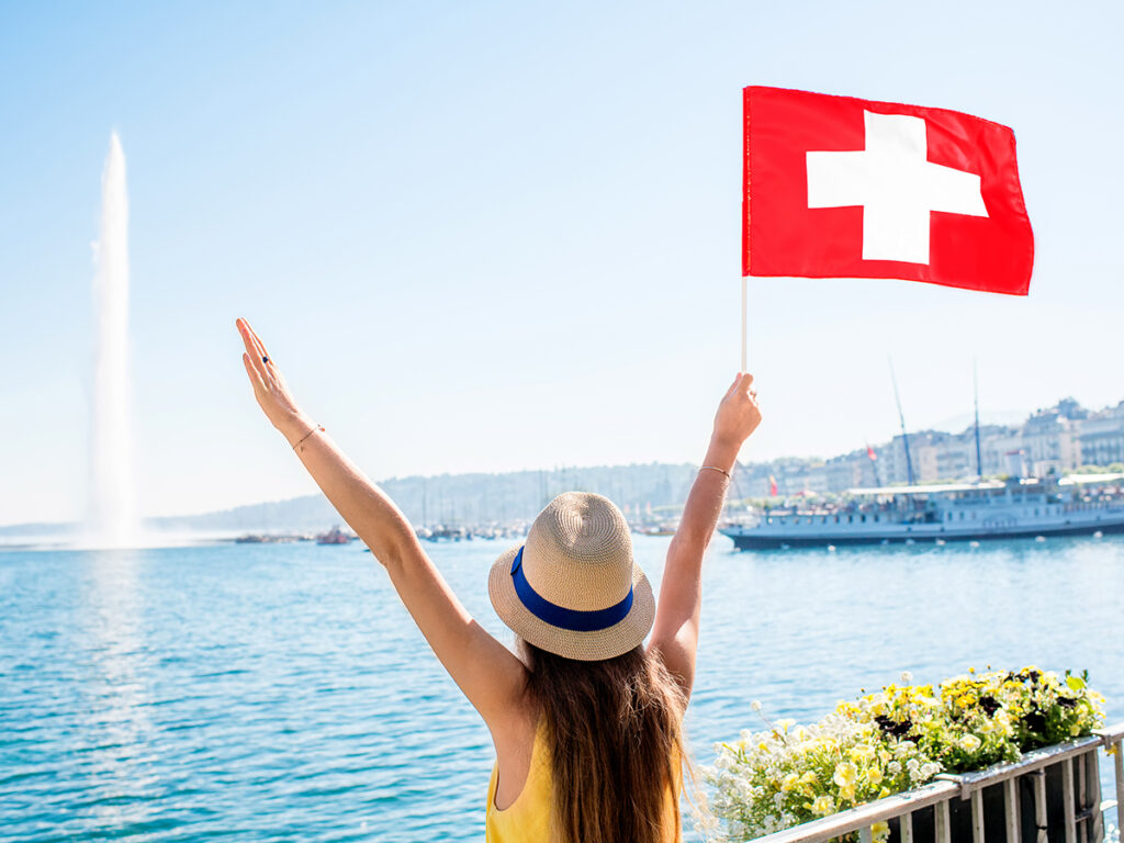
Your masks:
<path fill-rule="evenodd" d="M 744 102 L 743 275 L 1026 294 L 1034 237 L 1009 128 L 781 88 Z"/>

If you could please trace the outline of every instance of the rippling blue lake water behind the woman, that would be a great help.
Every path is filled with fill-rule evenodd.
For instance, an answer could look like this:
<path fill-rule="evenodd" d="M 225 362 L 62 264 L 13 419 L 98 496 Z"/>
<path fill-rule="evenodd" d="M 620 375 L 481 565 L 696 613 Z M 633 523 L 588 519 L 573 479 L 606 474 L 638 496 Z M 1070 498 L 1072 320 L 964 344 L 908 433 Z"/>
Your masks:
<path fill-rule="evenodd" d="M 668 541 L 635 540 L 654 586 Z M 427 547 L 510 643 L 486 589 L 509 544 Z M 1124 538 L 735 553 L 717 536 L 705 578 L 699 763 L 761 725 L 754 699 L 808 722 L 905 670 L 1088 668 L 1124 719 Z M 4 840 L 475 841 L 492 760 L 360 543 L 0 552 Z"/>

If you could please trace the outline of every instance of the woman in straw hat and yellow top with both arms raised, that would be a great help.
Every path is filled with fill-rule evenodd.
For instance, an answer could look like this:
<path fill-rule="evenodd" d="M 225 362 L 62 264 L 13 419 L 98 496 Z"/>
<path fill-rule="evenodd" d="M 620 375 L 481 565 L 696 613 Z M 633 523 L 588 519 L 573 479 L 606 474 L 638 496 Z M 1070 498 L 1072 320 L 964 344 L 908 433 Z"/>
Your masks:
<path fill-rule="evenodd" d="M 517 656 L 465 611 L 406 517 L 301 411 L 250 325 L 236 324 L 262 410 L 386 566 L 491 732 L 487 839 L 681 840 L 682 717 L 695 680 L 703 555 L 737 453 L 761 422 L 752 375 L 740 373 L 718 406 L 658 606 L 633 562 L 624 516 L 599 495 L 559 496 L 527 541 L 497 560 L 489 595 L 518 636 Z"/>

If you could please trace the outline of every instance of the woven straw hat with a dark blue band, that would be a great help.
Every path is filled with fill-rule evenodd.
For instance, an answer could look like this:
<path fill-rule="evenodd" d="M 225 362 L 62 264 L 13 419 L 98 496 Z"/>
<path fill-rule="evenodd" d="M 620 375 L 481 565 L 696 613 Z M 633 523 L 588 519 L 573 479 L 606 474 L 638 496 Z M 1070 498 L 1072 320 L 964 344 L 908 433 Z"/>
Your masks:
<path fill-rule="evenodd" d="M 582 661 L 627 653 L 655 617 L 652 586 L 633 562 L 624 515 L 590 492 L 566 492 L 547 504 L 526 544 L 492 565 L 488 595 L 517 635 Z"/>

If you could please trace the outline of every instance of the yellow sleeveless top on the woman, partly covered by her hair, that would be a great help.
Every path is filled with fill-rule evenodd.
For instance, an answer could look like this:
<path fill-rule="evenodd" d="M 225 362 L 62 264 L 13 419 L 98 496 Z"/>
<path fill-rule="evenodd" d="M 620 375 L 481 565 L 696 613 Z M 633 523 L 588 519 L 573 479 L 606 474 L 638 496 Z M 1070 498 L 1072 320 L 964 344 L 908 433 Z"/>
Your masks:
<path fill-rule="evenodd" d="M 492 765 L 488 780 L 488 810 L 484 815 L 487 843 L 546 843 L 550 841 L 550 818 L 553 808 L 550 753 L 546 749 L 546 720 L 538 722 L 535 743 L 531 750 L 531 769 L 523 790 L 507 808 L 496 807 L 496 787 L 499 783 L 499 764 Z M 679 782 L 681 786 L 681 782 Z M 677 796 L 668 794 L 667 843 L 682 843 L 682 828 L 673 822 Z"/>

